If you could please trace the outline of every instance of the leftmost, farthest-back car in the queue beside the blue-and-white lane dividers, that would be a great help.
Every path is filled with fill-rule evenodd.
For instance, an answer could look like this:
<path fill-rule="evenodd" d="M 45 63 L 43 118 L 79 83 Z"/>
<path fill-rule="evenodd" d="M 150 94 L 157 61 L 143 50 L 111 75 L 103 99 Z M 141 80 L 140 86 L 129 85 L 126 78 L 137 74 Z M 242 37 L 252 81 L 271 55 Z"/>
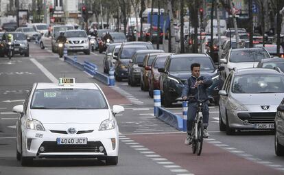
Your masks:
<path fill-rule="evenodd" d="M 113 67 L 115 64 L 115 59 L 113 59 L 113 51 L 115 50 L 115 47 L 120 48 L 121 43 L 111 43 L 108 45 L 108 48 L 106 49 L 106 54 L 104 56 L 104 73 L 108 73 L 110 71 L 110 67 Z"/>

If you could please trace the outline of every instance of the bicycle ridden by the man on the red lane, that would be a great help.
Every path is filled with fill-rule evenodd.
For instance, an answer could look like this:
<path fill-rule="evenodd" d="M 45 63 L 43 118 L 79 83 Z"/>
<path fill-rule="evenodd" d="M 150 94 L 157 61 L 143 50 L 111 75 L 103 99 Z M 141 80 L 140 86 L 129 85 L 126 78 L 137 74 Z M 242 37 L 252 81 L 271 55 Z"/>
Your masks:
<path fill-rule="evenodd" d="M 189 100 L 190 98 L 193 98 L 196 100 L 196 97 L 194 96 L 187 97 L 187 100 Z M 196 118 L 194 119 L 194 123 L 193 123 L 193 130 L 191 131 L 190 143 L 192 147 L 192 152 L 193 154 L 197 154 L 198 156 L 200 156 L 202 152 L 203 130 L 204 130 L 203 120 L 202 120 L 203 119 L 202 111 L 203 111 L 204 103 L 207 100 L 209 100 L 209 98 L 207 98 L 206 100 L 197 100 L 198 108 L 196 110 Z"/>

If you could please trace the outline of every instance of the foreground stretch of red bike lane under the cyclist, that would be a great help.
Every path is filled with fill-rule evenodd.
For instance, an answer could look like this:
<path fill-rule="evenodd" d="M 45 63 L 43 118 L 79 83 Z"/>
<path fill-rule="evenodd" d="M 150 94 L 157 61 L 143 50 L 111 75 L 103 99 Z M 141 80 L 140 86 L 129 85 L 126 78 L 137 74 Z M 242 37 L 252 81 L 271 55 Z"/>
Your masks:
<path fill-rule="evenodd" d="M 192 153 L 191 146 L 184 145 L 183 133 L 128 137 L 193 174 L 283 174 L 272 167 L 249 161 L 206 141 L 201 155 L 197 156 Z"/>

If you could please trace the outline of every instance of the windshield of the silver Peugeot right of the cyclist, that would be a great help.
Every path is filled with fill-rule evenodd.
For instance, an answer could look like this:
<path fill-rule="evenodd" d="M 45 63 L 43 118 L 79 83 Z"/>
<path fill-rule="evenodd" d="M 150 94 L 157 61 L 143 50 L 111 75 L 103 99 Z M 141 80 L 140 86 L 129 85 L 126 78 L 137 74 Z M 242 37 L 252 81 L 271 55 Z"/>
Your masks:
<path fill-rule="evenodd" d="M 235 76 L 233 93 L 284 93 L 283 75 L 249 74 Z"/>

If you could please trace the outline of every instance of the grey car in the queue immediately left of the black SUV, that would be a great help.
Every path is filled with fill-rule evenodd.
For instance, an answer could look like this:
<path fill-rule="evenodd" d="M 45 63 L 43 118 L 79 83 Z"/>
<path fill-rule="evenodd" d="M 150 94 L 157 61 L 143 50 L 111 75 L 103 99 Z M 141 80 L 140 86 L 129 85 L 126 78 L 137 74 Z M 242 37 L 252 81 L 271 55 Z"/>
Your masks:
<path fill-rule="evenodd" d="M 160 75 L 161 73 L 158 71 L 159 68 L 165 68 L 165 62 L 167 60 L 167 57 L 170 56 L 171 53 L 163 53 L 158 54 L 155 56 L 152 65 L 151 65 L 151 72 L 148 76 L 148 82 L 149 82 L 149 95 L 150 97 L 153 97 L 153 91 L 160 89 Z"/>

